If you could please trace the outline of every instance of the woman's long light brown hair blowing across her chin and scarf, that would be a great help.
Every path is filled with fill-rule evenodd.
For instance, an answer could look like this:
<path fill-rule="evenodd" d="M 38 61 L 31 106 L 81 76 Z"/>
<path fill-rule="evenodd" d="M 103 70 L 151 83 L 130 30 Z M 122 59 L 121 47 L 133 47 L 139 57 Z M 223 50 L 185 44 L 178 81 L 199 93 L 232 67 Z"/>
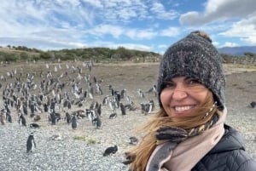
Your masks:
<path fill-rule="evenodd" d="M 196 108 L 194 113 L 180 117 L 169 117 L 166 111 L 161 107 L 160 111 L 156 112 L 154 117 L 151 117 L 143 127 L 137 129 L 137 133 L 144 133 L 143 139 L 125 152 L 127 158 L 132 159 L 131 170 L 142 171 L 145 170 L 148 159 L 155 147 L 164 143 L 156 139 L 156 131 L 163 126 L 171 126 L 183 129 L 195 128 L 199 125 L 207 123 L 217 111 L 217 106 L 206 116 L 206 113 L 212 108 L 214 103 L 212 92 L 209 91 L 207 98 L 203 104 Z"/>

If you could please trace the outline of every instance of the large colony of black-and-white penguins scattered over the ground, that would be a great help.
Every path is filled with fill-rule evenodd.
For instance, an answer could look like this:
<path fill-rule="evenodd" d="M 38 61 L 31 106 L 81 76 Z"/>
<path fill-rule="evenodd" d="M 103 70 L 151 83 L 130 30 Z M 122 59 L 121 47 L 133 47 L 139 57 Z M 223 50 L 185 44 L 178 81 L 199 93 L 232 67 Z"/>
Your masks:
<path fill-rule="evenodd" d="M 94 76 L 92 61 L 82 65 L 46 64 L 38 71 L 27 71 L 23 67 L 11 71 L 5 68 L 6 73 L 0 71 L 0 122 L 5 126 L 15 122 L 32 130 L 42 128 L 44 118 L 48 118 L 48 124 L 53 127 L 65 123 L 76 131 L 80 124 L 91 124 L 102 129 L 102 116 L 125 119 L 132 117 L 131 111 L 141 111 L 143 115 L 154 111 L 154 100 L 147 96 L 155 97 L 155 85 L 148 85 L 145 94 L 137 88 L 137 95 L 132 96 L 129 89 L 105 84 L 102 78 Z M 36 135 L 37 131 L 29 131 L 25 142 L 27 153 L 34 151 Z M 50 139 L 61 140 L 61 134 L 54 134 Z M 127 139 L 130 145 L 137 141 L 135 137 Z M 113 145 L 102 154 L 107 157 L 117 151 L 117 145 Z"/>

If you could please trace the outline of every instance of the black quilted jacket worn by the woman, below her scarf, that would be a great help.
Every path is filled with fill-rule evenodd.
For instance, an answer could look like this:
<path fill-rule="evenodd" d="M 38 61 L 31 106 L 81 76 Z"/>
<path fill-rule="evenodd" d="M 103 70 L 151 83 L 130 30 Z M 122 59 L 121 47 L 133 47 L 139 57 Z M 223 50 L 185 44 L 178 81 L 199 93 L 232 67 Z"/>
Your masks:
<path fill-rule="evenodd" d="M 228 125 L 224 128 L 222 139 L 192 171 L 256 171 L 256 162 L 245 151 L 241 135 Z"/>

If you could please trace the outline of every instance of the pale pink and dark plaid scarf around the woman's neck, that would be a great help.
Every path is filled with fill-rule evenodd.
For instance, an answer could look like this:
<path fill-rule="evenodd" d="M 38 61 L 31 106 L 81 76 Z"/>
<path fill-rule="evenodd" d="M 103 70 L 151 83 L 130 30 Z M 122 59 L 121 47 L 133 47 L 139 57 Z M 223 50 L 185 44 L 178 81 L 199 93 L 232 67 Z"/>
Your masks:
<path fill-rule="evenodd" d="M 225 117 L 226 108 L 220 118 L 214 114 L 209 122 L 189 132 L 182 128 L 160 128 L 156 136 L 166 142 L 154 149 L 146 170 L 191 170 L 223 136 Z"/>

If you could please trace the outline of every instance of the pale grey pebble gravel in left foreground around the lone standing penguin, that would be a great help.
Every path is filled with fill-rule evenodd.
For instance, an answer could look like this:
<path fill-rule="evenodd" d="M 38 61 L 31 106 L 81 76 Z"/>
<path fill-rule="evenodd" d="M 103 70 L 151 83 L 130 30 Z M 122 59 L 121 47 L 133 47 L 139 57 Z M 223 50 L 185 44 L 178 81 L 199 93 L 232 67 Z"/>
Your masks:
<path fill-rule="evenodd" d="M 13 170 L 125 170 L 119 155 L 102 157 L 104 146 L 73 140 L 72 133 L 61 132 L 62 140 L 51 140 L 52 130 L 34 133 L 36 148 L 26 153 L 26 139 L 31 130 L 14 123 L 1 128 L 1 171 Z M 127 169 L 126 169 L 127 170 Z"/>

